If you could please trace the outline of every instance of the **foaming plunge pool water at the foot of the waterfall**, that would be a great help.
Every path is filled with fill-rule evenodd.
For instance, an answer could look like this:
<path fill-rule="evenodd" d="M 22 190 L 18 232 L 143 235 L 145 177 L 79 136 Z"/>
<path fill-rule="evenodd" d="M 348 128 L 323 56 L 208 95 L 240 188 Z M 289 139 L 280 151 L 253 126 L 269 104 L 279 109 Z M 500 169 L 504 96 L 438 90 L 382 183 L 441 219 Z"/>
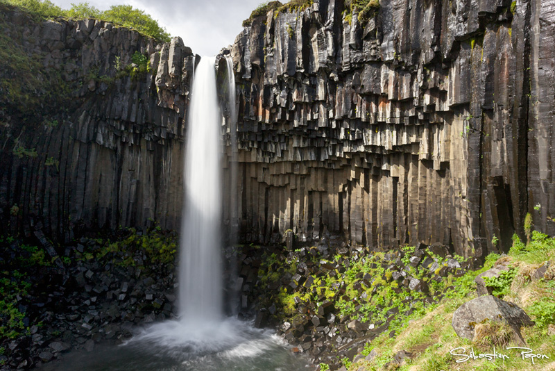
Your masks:
<path fill-rule="evenodd" d="M 187 324 L 165 321 L 136 329 L 122 345 L 75 351 L 44 371 L 300 371 L 310 370 L 305 356 L 293 354 L 272 331 L 249 322 Z"/>

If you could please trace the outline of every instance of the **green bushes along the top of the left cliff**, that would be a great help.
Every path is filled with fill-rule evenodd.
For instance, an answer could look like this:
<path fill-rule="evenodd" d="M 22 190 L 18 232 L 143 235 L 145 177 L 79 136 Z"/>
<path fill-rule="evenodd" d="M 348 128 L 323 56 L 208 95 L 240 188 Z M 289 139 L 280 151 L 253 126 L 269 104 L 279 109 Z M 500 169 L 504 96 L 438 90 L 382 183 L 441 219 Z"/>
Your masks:
<path fill-rule="evenodd" d="M 162 42 L 170 40 L 169 33 L 155 19 L 144 13 L 144 10 L 133 8 L 130 5 L 115 5 L 108 10 L 101 11 L 87 2 L 71 3 L 69 10 L 62 9 L 49 0 L 0 0 L 0 3 L 18 6 L 42 19 L 58 17 L 103 19 L 124 27 L 134 28 L 140 33 Z"/>

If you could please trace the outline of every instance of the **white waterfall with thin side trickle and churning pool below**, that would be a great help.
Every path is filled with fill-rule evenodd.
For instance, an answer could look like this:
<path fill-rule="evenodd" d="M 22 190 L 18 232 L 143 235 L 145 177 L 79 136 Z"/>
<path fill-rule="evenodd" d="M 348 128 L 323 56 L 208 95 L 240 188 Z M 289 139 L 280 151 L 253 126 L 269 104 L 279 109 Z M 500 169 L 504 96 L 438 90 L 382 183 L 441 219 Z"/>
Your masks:
<path fill-rule="evenodd" d="M 230 62 L 228 60 L 228 72 L 232 72 Z M 278 370 L 284 366 L 280 359 L 289 354 L 278 336 L 223 316 L 221 115 L 214 63 L 214 58 L 200 60 L 194 74 L 187 117 L 185 209 L 179 267 L 180 320 L 153 324 L 130 339 L 126 345 L 135 353 L 130 353 L 133 355 L 129 356 L 128 364 L 133 368 L 128 370 L 137 370 L 139 364 L 142 370 Z M 237 148 L 232 76 L 228 84 L 231 142 Z M 233 163 L 237 163 L 237 151 L 232 151 L 232 166 Z M 230 179 L 230 190 L 234 192 L 237 173 L 232 171 Z M 234 198 L 230 197 L 232 233 L 237 227 Z"/>

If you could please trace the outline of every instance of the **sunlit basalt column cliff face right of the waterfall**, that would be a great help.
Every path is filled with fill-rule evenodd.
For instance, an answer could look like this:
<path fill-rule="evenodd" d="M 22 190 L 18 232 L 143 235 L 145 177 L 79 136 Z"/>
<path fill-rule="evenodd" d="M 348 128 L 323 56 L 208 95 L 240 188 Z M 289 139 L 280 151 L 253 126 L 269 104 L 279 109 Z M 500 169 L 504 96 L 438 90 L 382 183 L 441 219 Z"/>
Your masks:
<path fill-rule="evenodd" d="M 506 250 L 555 233 L 553 1 L 343 1 L 255 19 L 234 43 L 245 240 L 343 233 Z"/>

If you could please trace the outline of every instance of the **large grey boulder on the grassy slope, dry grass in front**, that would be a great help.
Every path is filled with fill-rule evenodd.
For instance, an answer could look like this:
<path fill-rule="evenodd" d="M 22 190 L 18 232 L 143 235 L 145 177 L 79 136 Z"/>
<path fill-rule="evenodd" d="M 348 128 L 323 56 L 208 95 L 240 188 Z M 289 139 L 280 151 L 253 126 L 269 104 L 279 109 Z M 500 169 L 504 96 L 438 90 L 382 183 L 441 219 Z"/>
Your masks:
<path fill-rule="evenodd" d="M 453 313 L 452 326 L 458 336 L 472 340 L 475 325 L 486 319 L 505 321 L 513 329 L 515 340 L 521 344 L 525 342 L 520 327 L 534 324 L 522 308 L 493 295 L 486 295 L 461 305 Z"/>

